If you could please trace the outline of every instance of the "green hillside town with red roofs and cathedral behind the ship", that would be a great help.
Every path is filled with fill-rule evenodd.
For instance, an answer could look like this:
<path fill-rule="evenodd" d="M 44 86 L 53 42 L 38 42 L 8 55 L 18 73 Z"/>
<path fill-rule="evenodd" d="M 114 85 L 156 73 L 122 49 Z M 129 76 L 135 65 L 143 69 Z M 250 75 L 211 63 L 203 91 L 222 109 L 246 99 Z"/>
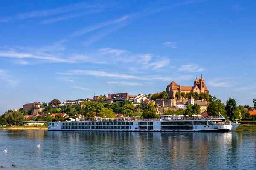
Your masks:
<path fill-rule="evenodd" d="M 166 91 L 155 94 L 129 95 L 128 93 L 100 95 L 93 98 L 26 103 L 23 108 L 9 109 L 0 117 L 0 125 L 19 123 L 41 124 L 51 121 L 64 121 L 69 118 L 94 119 L 95 117 L 140 116 L 142 119 L 159 118 L 160 115 L 218 116 L 227 119 L 252 119 L 256 115 L 254 106 L 237 105 L 235 99 L 228 99 L 224 105 L 220 99 L 209 94 L 205 80 L 195 78 L 193 86 L 181 86 L 172 81 Z M 35 122 L 34 122 L 35 123 Z"/>

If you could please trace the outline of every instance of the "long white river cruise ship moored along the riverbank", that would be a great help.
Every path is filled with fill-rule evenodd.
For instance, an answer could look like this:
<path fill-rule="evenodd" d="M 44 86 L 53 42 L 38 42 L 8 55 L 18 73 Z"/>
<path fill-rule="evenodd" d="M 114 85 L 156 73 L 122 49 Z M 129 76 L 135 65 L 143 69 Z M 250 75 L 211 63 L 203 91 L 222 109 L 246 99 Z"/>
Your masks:
<path fill-rule="evenodd" d="M 49 122 L 49 131 L 132 131 L 132 132 L 228 132 L 231 122 L 223 118 L 202 118 L 191 116 L 161 116 L 161 119 L 140 119 L 140 117 L 99 118 L 94 120 L 68 119 Z"/>

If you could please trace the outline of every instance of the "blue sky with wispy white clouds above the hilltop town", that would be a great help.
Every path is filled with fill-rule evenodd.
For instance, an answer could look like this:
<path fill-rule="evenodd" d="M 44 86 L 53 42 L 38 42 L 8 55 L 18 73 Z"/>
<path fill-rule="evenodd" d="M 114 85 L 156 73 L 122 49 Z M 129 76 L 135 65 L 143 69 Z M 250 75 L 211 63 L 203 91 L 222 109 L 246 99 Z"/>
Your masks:
<path fill-rule="evenodd" d="M 0 114 L 31 102 L 193 86 L 256 98 L 255 0 L 2 0 Z"/>

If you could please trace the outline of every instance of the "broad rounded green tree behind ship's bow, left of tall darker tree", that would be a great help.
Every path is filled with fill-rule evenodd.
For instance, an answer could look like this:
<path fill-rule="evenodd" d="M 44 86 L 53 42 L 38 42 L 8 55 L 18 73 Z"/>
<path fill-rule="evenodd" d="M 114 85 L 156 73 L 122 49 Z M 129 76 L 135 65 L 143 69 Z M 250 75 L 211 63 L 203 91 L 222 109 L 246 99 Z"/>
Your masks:
<path fill-rule="evenodd" d="M 226 116 L 225 106 L 220 99 L 210 95 L 207 104 L 207 113 L 209 116 L 219 116 L 219 113 L 221 113 L 222 116 Z"/>

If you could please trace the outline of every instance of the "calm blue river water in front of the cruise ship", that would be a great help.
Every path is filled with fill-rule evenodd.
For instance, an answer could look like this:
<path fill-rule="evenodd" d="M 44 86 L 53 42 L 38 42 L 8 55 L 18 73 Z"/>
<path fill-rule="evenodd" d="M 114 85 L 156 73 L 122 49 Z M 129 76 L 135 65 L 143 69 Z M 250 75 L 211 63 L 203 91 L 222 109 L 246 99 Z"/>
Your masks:
<path fill-rule="evenodd" d="M 3 152 L 6 147 L 7 153 Z M 255 170 L 256 132 L 0 130 L 0 166 L 14 169 L 12 164 L 16 170 Z"/>

